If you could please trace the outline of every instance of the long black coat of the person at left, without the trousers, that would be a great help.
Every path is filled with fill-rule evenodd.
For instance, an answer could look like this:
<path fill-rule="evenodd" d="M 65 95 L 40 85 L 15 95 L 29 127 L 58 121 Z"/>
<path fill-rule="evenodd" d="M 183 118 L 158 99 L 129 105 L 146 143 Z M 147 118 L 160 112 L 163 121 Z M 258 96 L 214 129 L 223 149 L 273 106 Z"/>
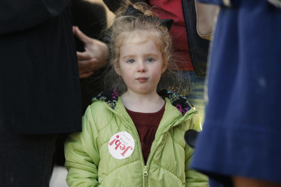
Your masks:
<path fill-rule="evenodd" d="M 0 107 L 8 132 L 81 130 L 70 1 L 0 2 Z"/>

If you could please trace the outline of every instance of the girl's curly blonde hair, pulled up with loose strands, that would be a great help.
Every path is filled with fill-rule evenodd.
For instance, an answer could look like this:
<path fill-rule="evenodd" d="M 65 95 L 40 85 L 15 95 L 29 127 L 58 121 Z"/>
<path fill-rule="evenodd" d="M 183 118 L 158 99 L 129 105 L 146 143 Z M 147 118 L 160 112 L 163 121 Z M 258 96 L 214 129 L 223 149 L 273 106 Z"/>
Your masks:
<path fill-rule="evenodd" d="M 143 14 L 137 15 L 136 17 L 124 15 L 129 5 L 138 9 Z M 144 38 L 143 43 L 150 39 L 155 42 L 156 47 L 162 54 L 163 65 L 167 65 L 166 71 L 160 78 L 157 90 L 165 87 L 166 89 L 184 94 L 181 90 L 186 91 L 186 86 L 183 86 L 184 84 L 180 82 L 179 75 L 177 74 L 178 67 L 174 58 L 172 38 L 169 35 L 169 30 L 161 24 L 160 19 L 153 19 L 157 15 L 151 11 L 151 8 L 148 4 L 142 2 L 133 4 L 131 1 L 125 0 L 115 12 L 116 17 L 111 23 L 112 26 L 109 32 L 107 32 L 109 35 L 108 38 L 110 38 L 110 56 L 105 85 L 108 87 L 118 86 L 119 94 L 126 91 L 127 86 L 122 77 L 115 72 L 115 68 L 119 68 L 119 49 L 124 45 L 124 41 L 128 36 L 141 36 Z M 151 16 L 151 18 L 148 16 Z M 184 89 L 182 89 L 183 87 Z"/>

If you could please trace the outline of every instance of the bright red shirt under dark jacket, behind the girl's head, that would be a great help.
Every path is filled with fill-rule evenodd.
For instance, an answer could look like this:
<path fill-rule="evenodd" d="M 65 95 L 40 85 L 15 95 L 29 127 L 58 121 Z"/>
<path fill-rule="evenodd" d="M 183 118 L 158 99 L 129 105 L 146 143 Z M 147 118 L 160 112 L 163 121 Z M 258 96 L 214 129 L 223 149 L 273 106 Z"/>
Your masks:
<path fill-rule="evenodd" d="M 170 35 L 173 37 L 173 47 L 177 53 L 180 70 L 193 70 L 188 41 L 186 26 L 184 22 L 184 15 L 182 12 L 181 1 L 179 0 L 149 0 L 151 6 L 156 6 L 152 11 L 156 13 L 160 19 L 172 18 L 174 23 L 170 30 Z"/>

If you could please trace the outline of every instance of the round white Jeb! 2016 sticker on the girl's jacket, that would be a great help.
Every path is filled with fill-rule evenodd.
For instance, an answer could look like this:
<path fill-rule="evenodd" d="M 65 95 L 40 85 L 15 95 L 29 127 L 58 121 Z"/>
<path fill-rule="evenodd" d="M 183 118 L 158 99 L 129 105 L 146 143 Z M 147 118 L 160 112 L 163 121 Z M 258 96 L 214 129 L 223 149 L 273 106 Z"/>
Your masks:
<path fill-rule="evenodd" d="M 116 159 L 129 157 L 135 148 L 135 140 L 131 134 L 121 131 L 114 134 L 108 143 L 109 153 Z"/>

